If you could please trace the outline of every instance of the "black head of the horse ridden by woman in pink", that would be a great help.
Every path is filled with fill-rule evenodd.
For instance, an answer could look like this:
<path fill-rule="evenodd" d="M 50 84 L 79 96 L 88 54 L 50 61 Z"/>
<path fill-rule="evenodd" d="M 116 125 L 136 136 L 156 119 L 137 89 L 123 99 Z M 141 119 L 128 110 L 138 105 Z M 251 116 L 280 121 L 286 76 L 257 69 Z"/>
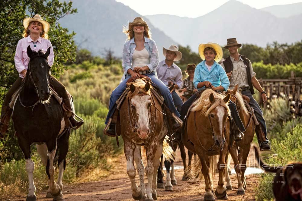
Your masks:
<path fill-rule="evenodd" d="M 40 101 L 46 101 L 50 97 L 50 65 L 47 62 L 47 57 L 50 54 L 50 47 L 44 54 L 43 51 L 35 52 L 31 47 L 27 47 L 27 55 L 30 58 L 28 64 L 27 82 L 34 84 L 35 90 Z"/>

